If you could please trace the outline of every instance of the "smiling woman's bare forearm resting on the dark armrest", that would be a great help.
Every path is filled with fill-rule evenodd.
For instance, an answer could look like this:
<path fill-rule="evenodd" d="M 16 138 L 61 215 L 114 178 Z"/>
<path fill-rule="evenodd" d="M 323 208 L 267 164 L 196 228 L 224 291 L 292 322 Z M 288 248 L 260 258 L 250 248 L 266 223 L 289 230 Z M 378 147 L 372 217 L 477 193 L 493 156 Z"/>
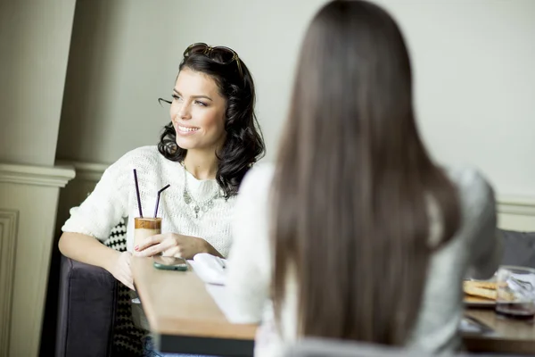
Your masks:
<path fill-rule="evenodd" d="M 65 232 L 60 237 L 60 252 L 78 262 L 96 265 L 111 270 L 111 264 L 117 260 L 119 252 L 103 245 L 95 237 L 79 233 Z"/>

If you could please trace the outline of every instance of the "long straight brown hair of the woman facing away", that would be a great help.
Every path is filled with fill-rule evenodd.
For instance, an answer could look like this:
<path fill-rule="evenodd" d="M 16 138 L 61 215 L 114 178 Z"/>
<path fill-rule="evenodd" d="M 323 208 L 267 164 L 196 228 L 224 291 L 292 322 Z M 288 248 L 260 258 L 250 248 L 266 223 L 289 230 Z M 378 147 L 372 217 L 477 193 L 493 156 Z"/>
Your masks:
<path fill-rule="evenodd" d="M 272 192 L 273 297 L 288 274 L 302 336 L 403 345 L 433 249 L 459 225 L 457 190 L 416 129 L 395 21 L 365 1 L 326 4 L 300 50 Z M 429 203 L 443 224 L 429 242 Z"/>

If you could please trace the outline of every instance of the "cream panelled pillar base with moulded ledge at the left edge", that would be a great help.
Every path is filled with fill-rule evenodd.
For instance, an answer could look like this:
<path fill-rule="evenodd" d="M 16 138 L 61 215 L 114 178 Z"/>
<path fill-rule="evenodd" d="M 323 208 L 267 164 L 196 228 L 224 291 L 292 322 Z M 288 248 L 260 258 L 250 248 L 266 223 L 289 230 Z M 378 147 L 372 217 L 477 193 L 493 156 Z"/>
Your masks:
<path fill-rule="evenodd" d="M 71 167 L 0 163 L 0 356 L 37 356 L 60 188 Z"/>

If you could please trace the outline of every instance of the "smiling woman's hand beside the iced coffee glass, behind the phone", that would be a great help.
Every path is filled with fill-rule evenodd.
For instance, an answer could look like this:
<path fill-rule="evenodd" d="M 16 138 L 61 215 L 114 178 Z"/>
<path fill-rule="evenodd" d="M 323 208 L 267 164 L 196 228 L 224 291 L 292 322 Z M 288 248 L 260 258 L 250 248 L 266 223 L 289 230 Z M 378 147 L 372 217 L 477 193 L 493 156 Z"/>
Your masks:
<path fill-rule="evenodd" d="M 144 239 L 143 243 L 134 247 L 136 256 L 152 256 L 161 253 L 192 259 L 197 253 L 219 253 L 207 241 L 198 237 L 183 236 L 176 233 L 165 233 Z"/>

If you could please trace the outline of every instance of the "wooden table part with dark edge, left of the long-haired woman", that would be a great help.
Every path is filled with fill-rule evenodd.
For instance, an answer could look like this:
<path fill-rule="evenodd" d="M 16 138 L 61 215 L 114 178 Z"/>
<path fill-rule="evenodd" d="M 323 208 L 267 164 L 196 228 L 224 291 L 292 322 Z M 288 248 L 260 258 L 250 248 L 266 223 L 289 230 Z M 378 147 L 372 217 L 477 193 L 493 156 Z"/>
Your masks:
<path fill-rule="evenodd" d="M 156 270 L 152 258 L 133 257 L 137 294 L 161 352 L 251 356 L 256 325 L 236 325 L 193 271 Z"/>

